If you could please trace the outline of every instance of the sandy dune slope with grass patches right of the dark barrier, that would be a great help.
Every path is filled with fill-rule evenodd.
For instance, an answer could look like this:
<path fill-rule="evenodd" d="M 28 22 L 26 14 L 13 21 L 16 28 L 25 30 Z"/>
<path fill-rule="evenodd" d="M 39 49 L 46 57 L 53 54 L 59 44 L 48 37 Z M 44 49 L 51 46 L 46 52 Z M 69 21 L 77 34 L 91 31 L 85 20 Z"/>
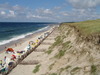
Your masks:
<path fill-rule="evenodd" d="M 78 33 L 70 27 L 62 27 L 61 30 L 59 32 L 56 29 L 9 75 L 100 75 L 99 48 L 78 37 Z M 55 46 L 51 54 L 47 54 L 46 51 L 49 51 L 48 48 L 58 35 L 63 37 L 63 42 Z M 64 50 L 64 53 L 60 52 Z M 56 57 L 58 54 L 61 58 Z M 39 64 L 39 70 L 33 73 Z"/>

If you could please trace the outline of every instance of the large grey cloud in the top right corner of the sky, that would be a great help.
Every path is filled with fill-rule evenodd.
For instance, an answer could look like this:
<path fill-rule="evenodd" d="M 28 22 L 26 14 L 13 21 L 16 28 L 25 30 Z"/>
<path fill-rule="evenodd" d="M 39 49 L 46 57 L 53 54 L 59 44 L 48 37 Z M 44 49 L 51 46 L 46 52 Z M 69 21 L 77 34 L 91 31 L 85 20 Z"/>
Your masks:
<path fill-rule="evenodd" d="M 69 0 L 74 8 L 94 8 L 100 5 L 100 0 Z"/>

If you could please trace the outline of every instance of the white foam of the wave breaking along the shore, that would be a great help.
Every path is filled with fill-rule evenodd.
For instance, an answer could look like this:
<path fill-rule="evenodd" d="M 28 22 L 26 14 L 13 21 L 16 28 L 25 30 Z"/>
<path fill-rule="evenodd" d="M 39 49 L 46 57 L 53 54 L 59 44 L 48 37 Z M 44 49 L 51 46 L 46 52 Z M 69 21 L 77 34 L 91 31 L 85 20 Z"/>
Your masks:
<path fill-rule="evenodd" d="M 0 45 L 4 45 L 4 44 L 7 44 L 7 43 L 10 43 L 11 41 L 16 41 L 16 40 L 18 40 L 18 39 L 25 38 L 25 37 L 28 36 L 28 35 L 32 35 L 32 34 L 34 34 L 34 33 L 36 33 L 36 32 L 43 31 L 43 30 L 45 30 L 45 29 L 47 29 L 47 28 L 49 28 L 49 26 L 44 27 L 44 28 L 41 28 L 41 29 L 38 29 L 38 30 L 36 30 L 36 31 L 34 31 L 34 32 L 30 32 L 30 33 L 26 33 L 26 34 L 22 34 L 22 35 L 18 35 L 18 36 L 12 36 L 12 38 L 9 39 L 9 40 L 3 40 L 3 41 L 1 41 L 1 42 L 0 42 Z"/>

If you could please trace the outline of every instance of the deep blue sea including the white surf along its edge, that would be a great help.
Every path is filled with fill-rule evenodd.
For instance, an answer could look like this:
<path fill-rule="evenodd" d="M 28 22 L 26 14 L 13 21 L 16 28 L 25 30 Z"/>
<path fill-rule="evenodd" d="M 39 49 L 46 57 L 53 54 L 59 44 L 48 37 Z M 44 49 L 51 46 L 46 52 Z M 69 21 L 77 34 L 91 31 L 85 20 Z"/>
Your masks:
<path fill-rule="evenodd" d="M 48 23 L 0 23 L 0 45 L 24 38 L 47 27 Z"/>

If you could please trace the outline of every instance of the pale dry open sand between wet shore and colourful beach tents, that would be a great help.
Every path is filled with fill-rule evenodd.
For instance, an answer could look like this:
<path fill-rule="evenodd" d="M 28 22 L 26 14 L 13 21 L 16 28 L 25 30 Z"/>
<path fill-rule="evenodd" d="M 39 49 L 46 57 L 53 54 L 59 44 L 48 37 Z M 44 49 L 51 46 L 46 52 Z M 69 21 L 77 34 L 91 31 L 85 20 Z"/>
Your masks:
<path fill-rule="evenodd" d="M 52 28 L 52 27 L 50 27 L 49 30 L 50 30 L 51 28 Z M 32 34 L 31 36 L 27 36 L 27 38 L 21 39 L 21 41 L 18 40 L 17 45 L 16 45 L 16 44 L 11 45 L 11 46 L 8 46 L 8 48 L 13 48 L 15 52 L 16 52 L 16 51 L 22 51 L 22 50 L 24 50 L 25 47 L 29 44 L 29 41 L 34 41 L 34 42 L 36 42 L 37 38 L 38 38 L 40 35 L 44 35 L 44 33 L 47 32 L 47 31 L 48 31 L 48 30 L 42 31 L 42 32 L 39 32 L 39 33 Z M 14 43 L 15 43 L 15 42 L 14 42 Z M 12 53 L 6 54 L 6 53 L 5 53 L 5 50 L 3 50 L 3 51 L 0 52 L 0 60 L 2 60 L 3 63 L 4 63 L 4 57 L 6 56 L 6 57 L 8 57 L 8 58 L 11 58 L 11 55 L 12 55 Z"/>

